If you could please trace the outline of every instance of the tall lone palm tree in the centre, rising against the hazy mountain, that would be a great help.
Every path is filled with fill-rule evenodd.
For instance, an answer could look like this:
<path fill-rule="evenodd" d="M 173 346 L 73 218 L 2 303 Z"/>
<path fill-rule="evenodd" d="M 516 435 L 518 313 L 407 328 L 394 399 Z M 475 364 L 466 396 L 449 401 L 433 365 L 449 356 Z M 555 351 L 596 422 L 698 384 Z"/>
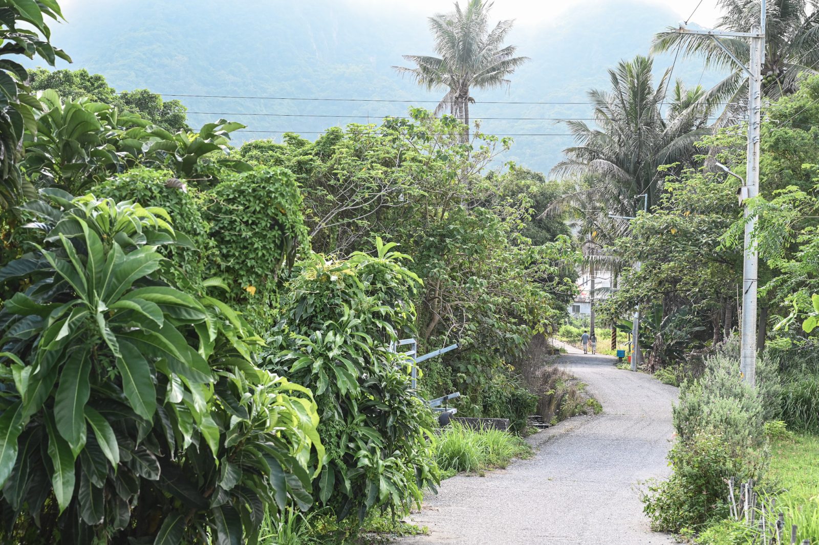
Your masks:
<path fill-rule="evenodd" d="M 429 18 L 429 28 L 435 38 L 438 56 L 405 55 L 415 68 L 393 66 L 401 74 L 411 74 L 427 88 L 446 89 L 446 95 L 435 109 L 438 115 L 449 107 L 469 131 L 469 104 L 474 103 L 470 89 L 509 86 L 509 75 L 528 58 L 515 56 L 517 47 L 503 46 L 514 20 L 502 20 L 489 28 L 488 15 L 492 2 L 469 0 L 462 10 L 455 2 L 455 11 L 439 13 Z"/>

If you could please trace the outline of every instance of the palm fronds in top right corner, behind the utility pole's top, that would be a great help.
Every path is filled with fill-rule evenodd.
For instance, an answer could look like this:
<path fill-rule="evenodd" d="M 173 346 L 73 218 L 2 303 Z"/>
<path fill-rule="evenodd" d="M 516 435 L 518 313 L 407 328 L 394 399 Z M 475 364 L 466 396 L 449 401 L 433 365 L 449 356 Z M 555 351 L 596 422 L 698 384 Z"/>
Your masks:
<path fill-rule="evenodd" d="M 720 0 L 726 13 L 718 29 L 749 32 L 759 25 L 758 0 Z M 799 74 L 815 74 L 819 68 L 819 2 L 817 0 L 771 0 L 767 2 L 765 62 L 762 65 L 762 92 L 778 98 L 793 93 Z M 722 44 L 740 61 L 747 63 L 750 46 L 744 38 L 720 38 Z M 673 30 L 654 37 L 653 52 L 666 52 L 676 47 L 684 56 L 703 57 L 707 66 L 730 70 L 730 74 L 704 94 L 702 99 L 712 104 L 729 105 L 744 100 L 748 94 L 748 77 L 735 61 L 710 36 L 679 34 Z M 726 114 L 731 108 L 726 108 Z M 722 115 L 720 124 L 726 124 Z"/>

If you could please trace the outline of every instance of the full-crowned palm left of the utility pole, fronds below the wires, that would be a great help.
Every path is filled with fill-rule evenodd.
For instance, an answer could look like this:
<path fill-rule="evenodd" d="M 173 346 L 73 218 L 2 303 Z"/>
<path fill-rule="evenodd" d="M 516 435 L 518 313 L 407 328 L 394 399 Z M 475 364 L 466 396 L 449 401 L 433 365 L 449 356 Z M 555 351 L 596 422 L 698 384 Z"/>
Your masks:
<path fill-rule="evenodd" d="M 596 128 L 584 121 L 563 121 L 577 146 L 563 150 L 566 158 L 552 173 L 581 179 L 586 185 L 555 206 L 594 194 L 598 208 L 634 215 L 642 205 L 637 196 L 648 195 L 649 207 L 656 202 L 665 178 L 658 167 L 690 158 L 695 142 L 708 132 L 712 108 L 699 100 L 704 94 L 701 87 L 686 89 L 679 81 L 667 100 L 671 70 L 665 71 L 655 88 L 653 65 L 650 56 L 621 61 L 609 70 L 609 91 L 589 91 Z M 667 106 L 666 117 L 663 106 Z"/>

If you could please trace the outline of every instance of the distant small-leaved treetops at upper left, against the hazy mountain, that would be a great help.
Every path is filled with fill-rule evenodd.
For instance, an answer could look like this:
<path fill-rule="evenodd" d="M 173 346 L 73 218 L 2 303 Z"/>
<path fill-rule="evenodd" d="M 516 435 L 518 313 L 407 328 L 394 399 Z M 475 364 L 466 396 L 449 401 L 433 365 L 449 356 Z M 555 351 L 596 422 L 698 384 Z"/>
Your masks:
<path fill-rule="evenodd" d="M 101 74 L 88 74 L 88 70 L 45 70 L 29 71 L 29 86 L 33 91 L 53 89 L 61 97 L 77 100 L 88 97 L 90 101 L 114 106 L 117 110 L 138 114 L 152 124 L 175 132 L 188 128 L 185 111 L 188 110 L 178 100 L 163 101 L 160 95 L 147 89 L 132 92 L 117 92 Z"/>

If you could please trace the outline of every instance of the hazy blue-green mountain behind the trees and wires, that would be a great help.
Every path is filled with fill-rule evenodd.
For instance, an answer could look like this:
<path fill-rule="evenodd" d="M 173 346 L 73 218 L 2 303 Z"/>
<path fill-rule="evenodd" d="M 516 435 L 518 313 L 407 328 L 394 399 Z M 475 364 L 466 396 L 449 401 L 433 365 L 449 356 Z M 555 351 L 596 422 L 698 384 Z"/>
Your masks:
<path fill-rule="evenodd" d="M 188 115 L 192 126 L 235 119 L 248 125 L 242 139 L 278 139 L 282 131 L 315 137 L 333 125 L 405 115 L 410 105 L 432 108 L 443 95 L 425 92 L 391 69 L 404 62 L 402 54 L 432 52 L 425 18 L 398 2 L 364 7 L 343 0 L 66 0 L 63 5 L 69 22 L 55 25 L 52 42 L 73 57 L 73 68 L 103 74 L 117 89 L 225 97 L 180 100 L 191 112 L 205 112 Z M 441 8 L 449 5 L 442 2 Z M 662 7 L 623 0 L 577 2 L 559 20 L 518 25 L 509 43 L 532 60 L 518 70 L 508 90 L 473 92 L 477 104 L 471 113 L 476 118 L 588 117 L 584 104 L 486 102 L 585 102 L 588 88 L 607 84 L 609 66 L 645 53 L 652 34 L 676 20 Z M 667 56 L 656 63 L 658 71 L 671 64 Z M 697 61 L 678 60 L 674 75 L 691 85 L 716 81 Z M 486 119 L 482 129 L 541 135 L 514 137 L 505 156 L 541 171 L 548 171 L 572 143 L 571 137 L 554 136 L 566 130 L 547 119 Z"/>

